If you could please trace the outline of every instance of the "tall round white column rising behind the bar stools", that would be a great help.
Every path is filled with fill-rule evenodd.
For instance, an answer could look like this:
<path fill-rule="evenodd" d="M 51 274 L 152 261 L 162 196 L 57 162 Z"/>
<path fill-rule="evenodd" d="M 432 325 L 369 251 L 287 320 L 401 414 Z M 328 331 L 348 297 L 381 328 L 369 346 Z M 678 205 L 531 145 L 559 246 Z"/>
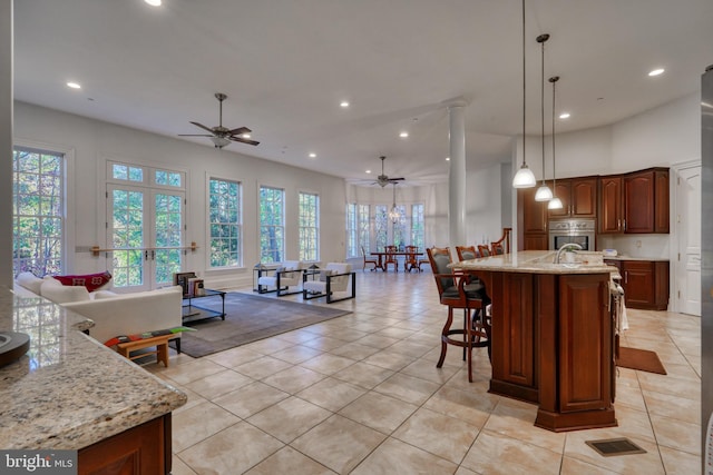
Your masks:
<path fill-rule="evenodd" d="M 466 106 L 465 100 L 448 106 L 448 240 L 451 247 L 466 244 Z"/>

